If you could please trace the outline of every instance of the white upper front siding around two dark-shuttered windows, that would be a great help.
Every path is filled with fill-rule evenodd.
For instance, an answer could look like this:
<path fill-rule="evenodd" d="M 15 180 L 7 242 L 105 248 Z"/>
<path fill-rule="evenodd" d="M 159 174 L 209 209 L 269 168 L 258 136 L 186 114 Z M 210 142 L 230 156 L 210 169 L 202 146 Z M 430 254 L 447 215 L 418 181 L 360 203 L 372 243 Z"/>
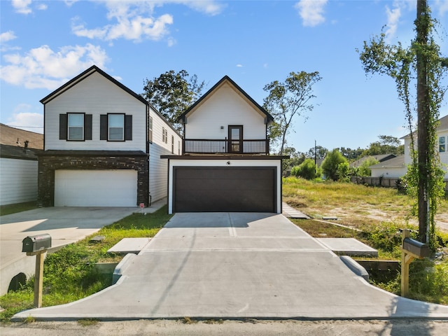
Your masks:
<path fill-rule="evenodd" d="M 59 140 L 59 114 L 92 114 L 92 140 Z M 132 115 L 132 141 L 99 140 L 99 116 Z M 146 104 L 95 72 L 45 104 L 45 150 L 146 151 Z"/>

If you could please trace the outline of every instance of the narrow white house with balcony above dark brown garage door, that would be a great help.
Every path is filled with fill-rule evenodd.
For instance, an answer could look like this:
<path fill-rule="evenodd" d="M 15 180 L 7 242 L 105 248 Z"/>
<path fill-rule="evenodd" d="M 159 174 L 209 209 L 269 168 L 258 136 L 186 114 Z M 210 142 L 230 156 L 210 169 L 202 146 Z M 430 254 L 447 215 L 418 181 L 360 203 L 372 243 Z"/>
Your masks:
<path fill-rule="evenodd" d="M 168 211 L 281 213 L 281 159 L 272 116 L 228 76 L 183 113 L 182 155 L 169 162 Z"/>

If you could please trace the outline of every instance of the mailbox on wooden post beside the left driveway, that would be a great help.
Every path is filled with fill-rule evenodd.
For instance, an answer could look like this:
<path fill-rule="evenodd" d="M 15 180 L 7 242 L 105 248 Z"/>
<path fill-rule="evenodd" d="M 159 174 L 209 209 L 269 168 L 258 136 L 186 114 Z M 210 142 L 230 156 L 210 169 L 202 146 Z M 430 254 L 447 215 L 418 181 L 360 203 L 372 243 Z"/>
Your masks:
<path fill-rule="evenodd" d="M 47 233 L 37 236 L 28 236 L 22 240 L 22 252 L 27 255 L 36 255 L 36 272 L 34 273 L 34 307 L 42 307 L 43 288 L 43 260 L 45 253 L 51 247 L 51 236 Z"/>

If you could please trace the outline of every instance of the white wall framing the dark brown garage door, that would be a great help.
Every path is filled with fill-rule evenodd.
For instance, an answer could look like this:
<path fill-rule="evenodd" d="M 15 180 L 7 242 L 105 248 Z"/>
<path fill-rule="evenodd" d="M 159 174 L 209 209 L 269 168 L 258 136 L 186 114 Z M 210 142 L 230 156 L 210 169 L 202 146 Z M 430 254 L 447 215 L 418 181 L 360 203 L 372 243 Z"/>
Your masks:
<path fill-rule="evenodd" d="M 173 213 L 173 167 L 276 167 L 276 209 L 281 212 L 281 160 L 169 160 L 168 214 Z"/>

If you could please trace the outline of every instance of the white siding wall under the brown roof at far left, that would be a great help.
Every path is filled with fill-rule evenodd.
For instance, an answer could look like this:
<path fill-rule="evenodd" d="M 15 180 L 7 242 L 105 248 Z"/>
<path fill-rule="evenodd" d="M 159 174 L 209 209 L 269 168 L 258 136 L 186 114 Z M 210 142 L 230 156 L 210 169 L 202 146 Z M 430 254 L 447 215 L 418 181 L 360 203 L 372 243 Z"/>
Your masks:
<path fill-rule="evenodd" d="M 0 158 L 0 205 L 37 200 L 38 162 Z"/>

